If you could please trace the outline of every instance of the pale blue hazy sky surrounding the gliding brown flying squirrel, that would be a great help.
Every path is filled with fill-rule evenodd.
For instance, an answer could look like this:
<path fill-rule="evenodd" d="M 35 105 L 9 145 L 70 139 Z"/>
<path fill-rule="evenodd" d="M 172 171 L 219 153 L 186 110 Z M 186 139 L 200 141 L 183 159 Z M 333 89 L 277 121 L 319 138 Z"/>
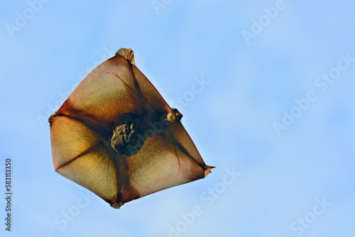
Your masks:
<path fill-rule="evenodd" d="M 0 235 L 354 236 L 354 3 L 154 2 L 0 1 Z M 216 168 L 113 209 L 54 171 L 47 118 L 119 48 Z"/>

